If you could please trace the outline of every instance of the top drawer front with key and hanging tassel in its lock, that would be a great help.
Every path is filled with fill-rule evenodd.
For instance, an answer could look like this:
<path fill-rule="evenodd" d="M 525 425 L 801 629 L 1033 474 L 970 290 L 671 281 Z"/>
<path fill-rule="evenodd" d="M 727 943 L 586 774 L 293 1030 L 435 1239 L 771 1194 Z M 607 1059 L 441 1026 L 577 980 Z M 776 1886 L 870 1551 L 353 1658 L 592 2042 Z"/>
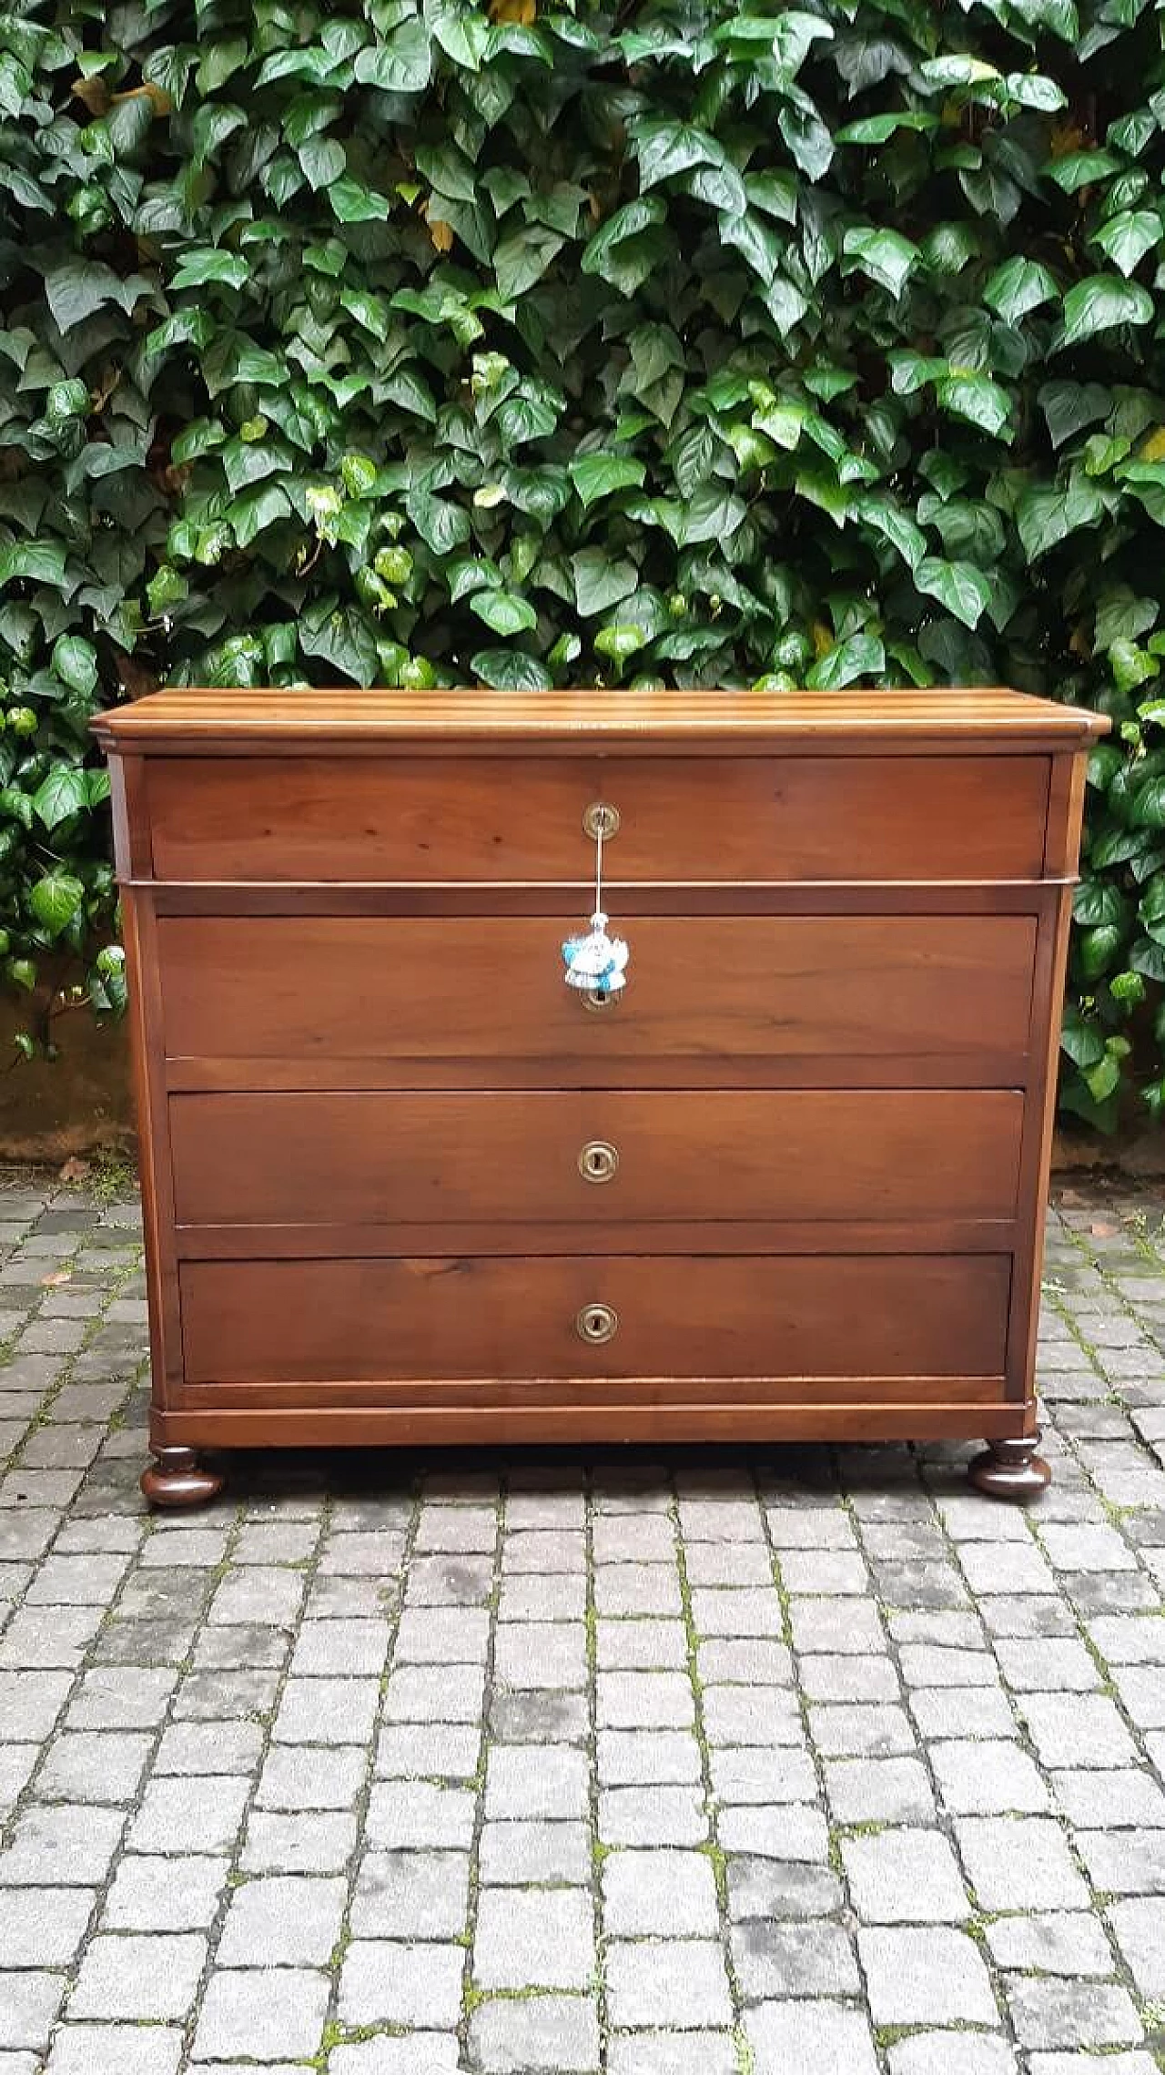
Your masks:
<path fill-rule="evenodd" d="M 1043 755 L 151 757 L 160 880 L 607 884 L 1028 880 Z"/>

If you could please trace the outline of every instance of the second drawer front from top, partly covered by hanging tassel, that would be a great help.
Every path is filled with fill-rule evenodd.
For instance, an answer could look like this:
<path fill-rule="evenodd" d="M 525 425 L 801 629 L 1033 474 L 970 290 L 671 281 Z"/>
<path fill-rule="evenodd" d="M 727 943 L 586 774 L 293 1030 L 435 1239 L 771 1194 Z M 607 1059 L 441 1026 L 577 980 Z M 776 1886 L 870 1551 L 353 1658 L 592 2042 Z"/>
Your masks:
<path fill-rule="evenodd" d="M 981 1058 L 1026 1052 L 1028 915 L 624 915 L 618 928 L 626 994 L 589 1008 L 564 986 L 553 919 L 164 915 L 166 1052 L 323 1075 L 367 1060 L 390 1079 L 406 1062 L 549 1058 L 578 1062 L 578 1081 L 655 1064 L 715 1077 L 732 1058 L 891 1071 L 931 1058 L 964 1081 Z"/>

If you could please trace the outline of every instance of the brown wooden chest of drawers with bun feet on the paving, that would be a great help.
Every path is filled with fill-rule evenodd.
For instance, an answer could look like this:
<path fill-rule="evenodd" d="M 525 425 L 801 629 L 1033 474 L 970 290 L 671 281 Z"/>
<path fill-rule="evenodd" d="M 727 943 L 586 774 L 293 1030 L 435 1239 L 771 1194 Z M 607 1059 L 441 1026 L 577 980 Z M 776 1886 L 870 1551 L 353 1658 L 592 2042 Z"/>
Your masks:
<path fill-rule="evenodd" d="M 983 1488 L 1036 1490 L 1103 728 L 1005 691 L 102 716 L 149 1498 L 209 1496 L 203 1448 L 444 1440 L 983 1436 Z M 612 996 L 562 963 L 597 807 Z"/>

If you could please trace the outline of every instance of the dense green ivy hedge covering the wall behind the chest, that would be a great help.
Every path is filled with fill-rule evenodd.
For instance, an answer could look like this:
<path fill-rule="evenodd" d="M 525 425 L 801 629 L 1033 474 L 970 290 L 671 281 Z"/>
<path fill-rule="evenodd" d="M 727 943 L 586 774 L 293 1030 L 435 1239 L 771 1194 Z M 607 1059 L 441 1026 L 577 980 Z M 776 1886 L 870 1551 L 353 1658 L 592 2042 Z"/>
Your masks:
<path fill-rule="evenodd" d="M 2 4 L 2 0 L 0 0 Z M 122 998 L 93 710 L 1099 706 L 1063 1102 L 1165 1112 L 1150 0 L 8 0 L 0 905 Z"/>

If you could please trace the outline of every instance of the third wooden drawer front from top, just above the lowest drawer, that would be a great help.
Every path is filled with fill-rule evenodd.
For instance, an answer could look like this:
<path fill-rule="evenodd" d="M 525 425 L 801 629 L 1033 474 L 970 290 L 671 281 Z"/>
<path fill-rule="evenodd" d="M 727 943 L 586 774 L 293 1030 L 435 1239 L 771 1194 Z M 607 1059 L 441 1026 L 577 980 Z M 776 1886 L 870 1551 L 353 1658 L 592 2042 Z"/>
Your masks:
<path fill-rule="evenodd" d="M 170 1100 L 180 1224 L 1010 1218 L 1020 1125 L 1014 1089 Z"/>

